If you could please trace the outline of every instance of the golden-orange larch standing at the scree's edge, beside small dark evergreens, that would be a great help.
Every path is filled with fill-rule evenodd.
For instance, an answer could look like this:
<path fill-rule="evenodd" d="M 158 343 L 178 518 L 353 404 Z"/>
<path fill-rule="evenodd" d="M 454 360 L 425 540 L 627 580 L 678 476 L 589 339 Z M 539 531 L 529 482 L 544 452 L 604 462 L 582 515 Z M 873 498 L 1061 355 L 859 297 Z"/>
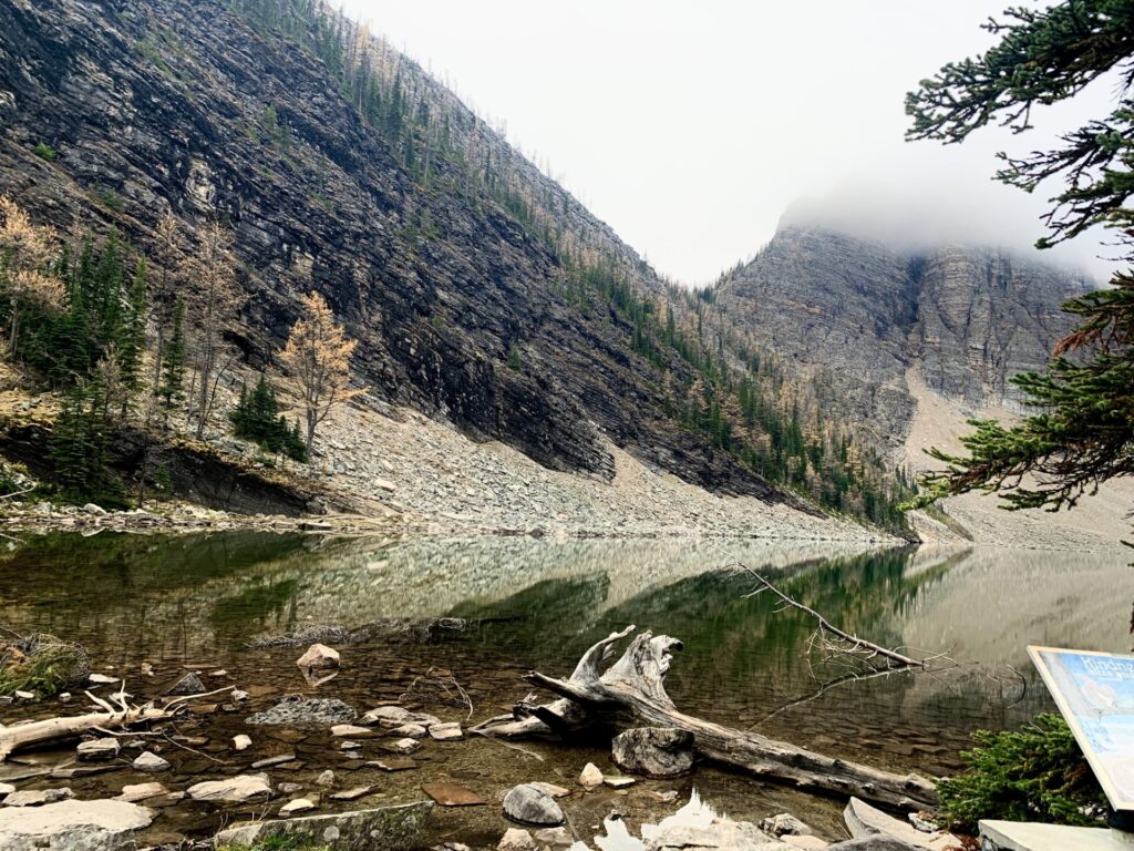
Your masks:
<path fill-rule="evenodd" d="M 280 360 L 299 385 L 307 426 L 307 457 L 311 458 L 319 424 L 337 405 L 365 390 L 348 386 L 350 355 L 357 342 L 346 336 L 319 293 L 308 293 L 302 301 L 303 314 L 291 327 Z"/>

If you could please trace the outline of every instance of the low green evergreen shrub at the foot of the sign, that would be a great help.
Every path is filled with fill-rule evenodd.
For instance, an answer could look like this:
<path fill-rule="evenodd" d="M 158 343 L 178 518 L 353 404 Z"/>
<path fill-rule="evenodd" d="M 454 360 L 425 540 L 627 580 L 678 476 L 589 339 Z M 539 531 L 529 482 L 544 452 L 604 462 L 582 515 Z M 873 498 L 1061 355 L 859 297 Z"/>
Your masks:
<path fill-rule="evenodd" d="M 938 783 L 940 816 L 976 832 L 982 818 L 1095 825 L 1107 799 L 1070 728 L 1058 715 L 1038 715 L 1019 730 L 979 730 L 980 745 L 960 756 L 966 769 Z"/>

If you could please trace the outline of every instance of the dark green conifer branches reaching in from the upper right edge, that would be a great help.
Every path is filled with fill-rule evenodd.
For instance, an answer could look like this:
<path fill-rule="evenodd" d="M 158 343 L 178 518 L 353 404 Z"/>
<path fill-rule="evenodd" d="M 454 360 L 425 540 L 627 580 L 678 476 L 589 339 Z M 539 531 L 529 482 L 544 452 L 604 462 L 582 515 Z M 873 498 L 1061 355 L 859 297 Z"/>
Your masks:
<path fill-rule="evenodd" d="M 909 137 L 963 142 L 992 121 L 1023 133 L 1033 106 L 1068 100 L 1118 69 L 1109 116 L 1063 136 L 1053 150 L 1001 154 L 1006 167 L 997 177 L 1027 192 L 1063 178 L 1038 247 L 1101 225 L 1117 234 L 1124 260 L 1134 261 L 1134 0 L 1065 0 L 1005 15 L 1008 23 L 984 27 L 1001 37 L 998 44 L 945 66 L 907 95 Z M 1134 272 L 1115 272 L 1110 285 L 1067 302 L 1080 327 L 1056 346 L 1046 371 L 1014 379 L 1039 413 L 1007 427 L 972 421 L 967 455 L 933 449 L 947 466 L 925 478 L 929 490 L 917 505 L 981 489 L 999 491 L 1009 508 L 1057 511 L 1102 481 L 1134 474 Z"/>

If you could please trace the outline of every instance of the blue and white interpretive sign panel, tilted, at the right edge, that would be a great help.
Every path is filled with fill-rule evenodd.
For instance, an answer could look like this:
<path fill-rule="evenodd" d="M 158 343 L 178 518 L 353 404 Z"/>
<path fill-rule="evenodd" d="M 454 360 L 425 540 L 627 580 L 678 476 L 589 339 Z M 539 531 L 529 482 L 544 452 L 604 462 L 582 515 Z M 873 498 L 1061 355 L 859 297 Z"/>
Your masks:
<path fill-rule="evenodd" d="M 1029 647 L 1110 806 L 1134 810 L 1134 656 Z"/>

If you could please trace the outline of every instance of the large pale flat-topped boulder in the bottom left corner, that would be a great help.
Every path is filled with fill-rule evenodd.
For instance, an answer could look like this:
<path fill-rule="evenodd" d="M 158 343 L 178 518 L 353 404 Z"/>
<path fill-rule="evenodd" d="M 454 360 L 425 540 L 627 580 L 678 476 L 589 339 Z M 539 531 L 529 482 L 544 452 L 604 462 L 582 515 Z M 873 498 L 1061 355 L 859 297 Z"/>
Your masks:
<path fill-rule="evenodd" d="M 126 851 L 134 832 L 149 827 L 153 812 L 127 801 L 59 801 L 34 809 L 0 810 L 5 851 Z"/>

